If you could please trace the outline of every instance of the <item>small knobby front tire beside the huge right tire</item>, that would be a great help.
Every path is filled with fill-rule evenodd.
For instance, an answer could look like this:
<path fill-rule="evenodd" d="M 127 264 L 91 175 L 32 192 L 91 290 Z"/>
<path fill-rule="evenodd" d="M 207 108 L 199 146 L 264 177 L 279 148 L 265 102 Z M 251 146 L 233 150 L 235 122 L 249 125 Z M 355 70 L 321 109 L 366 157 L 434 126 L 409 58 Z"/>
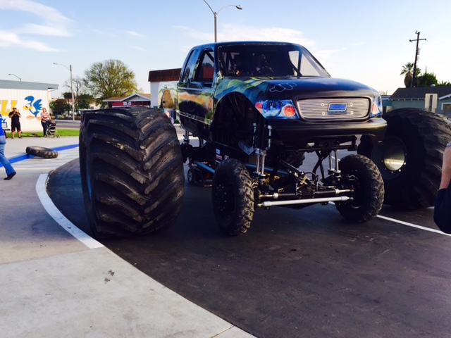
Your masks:
<path fill-rule="evenodd" d="M 383 204 L 383 180 L 376 165 L 362 155 L 349 155 L 339 164 L 342 188 L 353 189 L 351 202 L 335 203 L 347 220 L 362 223 L 375 218 Z"/>

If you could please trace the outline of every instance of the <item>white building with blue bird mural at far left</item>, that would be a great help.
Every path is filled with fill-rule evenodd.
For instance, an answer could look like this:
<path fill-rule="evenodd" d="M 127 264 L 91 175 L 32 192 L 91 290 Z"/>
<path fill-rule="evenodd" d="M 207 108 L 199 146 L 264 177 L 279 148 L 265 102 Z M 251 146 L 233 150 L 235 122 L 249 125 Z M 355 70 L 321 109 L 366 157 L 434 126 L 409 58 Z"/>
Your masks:
<path fill-rule="evenodd" d="M 58 89 L 58 84 L 0 80 L 0 118 L 1 126 L 9 130 L 11 119 L 8 114 L 16 107 L 20 112 L 22 131 L 42 130 L 42 108 L 49 110 L 51 91 Z"/>

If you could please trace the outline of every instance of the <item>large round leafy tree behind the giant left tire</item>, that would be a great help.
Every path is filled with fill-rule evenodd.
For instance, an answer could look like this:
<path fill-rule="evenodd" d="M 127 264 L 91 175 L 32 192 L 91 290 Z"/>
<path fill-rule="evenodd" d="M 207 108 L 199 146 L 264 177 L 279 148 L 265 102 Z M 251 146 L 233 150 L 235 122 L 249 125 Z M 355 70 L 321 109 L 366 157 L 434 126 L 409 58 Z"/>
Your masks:
<path fill-rule="evenodd" d="M 104 99 L 137 92 L 135 73 L 122 61 L 113 59 L 93 63 L 85 70 L 85 86 L 102 107 L 106 106 Z"/>

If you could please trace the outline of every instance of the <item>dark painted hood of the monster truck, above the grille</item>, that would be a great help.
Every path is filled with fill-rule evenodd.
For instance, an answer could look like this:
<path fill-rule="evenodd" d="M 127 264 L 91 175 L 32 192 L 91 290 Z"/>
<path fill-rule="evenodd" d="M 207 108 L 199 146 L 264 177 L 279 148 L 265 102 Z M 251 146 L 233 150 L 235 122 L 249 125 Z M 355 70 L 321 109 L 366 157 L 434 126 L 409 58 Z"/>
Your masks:
<path fill-rule="evenodd" d="M 216 88 L 216 99 L 240 92 L 255 103 L 264 99 L 314 99 L 321 97 L 365 96 L 377 92 L 365 84 L 334 77 L 226 77 Z"/>

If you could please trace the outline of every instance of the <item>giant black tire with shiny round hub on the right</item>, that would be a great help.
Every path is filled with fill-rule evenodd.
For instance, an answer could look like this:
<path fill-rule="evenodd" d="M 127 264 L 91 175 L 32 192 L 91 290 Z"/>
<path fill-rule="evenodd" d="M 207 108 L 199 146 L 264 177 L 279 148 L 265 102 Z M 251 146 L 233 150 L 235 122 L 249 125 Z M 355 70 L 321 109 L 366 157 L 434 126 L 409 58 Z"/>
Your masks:
<path fill-rule="evenodd" d="M 433 206 L 440 185 L 443 151 L 451 140 L 443 115 L 402 108 L 383 115 L 388 127 L 382 144 L 362 136 L 357 152 L 373 160 L 385 184 L 385 204 L 414 210 Z"/>

